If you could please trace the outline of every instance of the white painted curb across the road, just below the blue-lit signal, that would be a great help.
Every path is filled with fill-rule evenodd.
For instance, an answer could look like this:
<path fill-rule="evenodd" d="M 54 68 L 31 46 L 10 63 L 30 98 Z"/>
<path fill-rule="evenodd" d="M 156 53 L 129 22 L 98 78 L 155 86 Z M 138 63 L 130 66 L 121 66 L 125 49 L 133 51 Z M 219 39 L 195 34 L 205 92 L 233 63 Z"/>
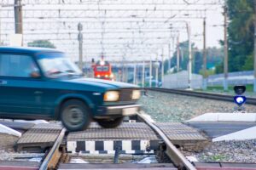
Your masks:
<path fill-rule="evenodd" d="M 206 113 L 186 122 L 256 122 L 256 113 Z"/>

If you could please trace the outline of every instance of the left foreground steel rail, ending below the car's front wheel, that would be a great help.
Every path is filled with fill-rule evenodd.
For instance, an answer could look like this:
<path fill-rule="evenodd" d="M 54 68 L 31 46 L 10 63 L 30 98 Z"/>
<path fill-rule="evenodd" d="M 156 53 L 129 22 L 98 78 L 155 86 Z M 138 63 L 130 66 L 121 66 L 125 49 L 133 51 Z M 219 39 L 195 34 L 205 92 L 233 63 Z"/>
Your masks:
<path fill-rule="evenodd" d="M 53 147 L 49 150 L 49 154 L 45 157 L 44 161 L 42 162 L 39 170 L 47 170 L 49 169 L 50 162 L 55 159 L 55 155 L 57 154 L 57 151 L 59 151 L 59 147 L 61 145 L 61 142 L 65 136 L 66 128 L 62 128 L 61 133 L 59 134 L 58 138 L 55 140 L 55 144 Z"/>

